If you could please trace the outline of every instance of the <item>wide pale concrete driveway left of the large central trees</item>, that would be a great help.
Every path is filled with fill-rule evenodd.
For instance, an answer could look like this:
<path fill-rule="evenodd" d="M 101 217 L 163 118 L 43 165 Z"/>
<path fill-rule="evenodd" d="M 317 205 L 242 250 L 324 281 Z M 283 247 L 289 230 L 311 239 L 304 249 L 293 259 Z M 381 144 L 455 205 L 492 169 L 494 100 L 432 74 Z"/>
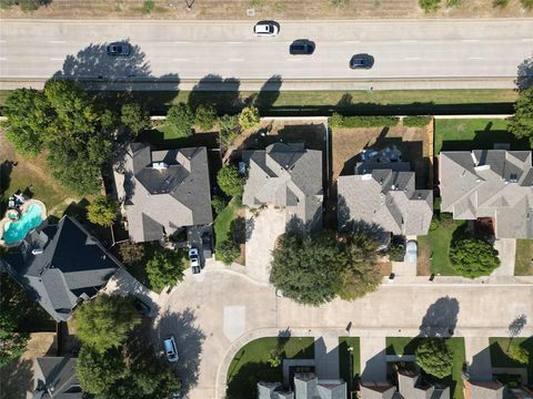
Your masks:
<path fill-rule="evenodd" d="M 247 274 L 268 283 L 275 241 L 285 232 L 284 209 L 269 207 L 258 216 L 247 209 Z"/>

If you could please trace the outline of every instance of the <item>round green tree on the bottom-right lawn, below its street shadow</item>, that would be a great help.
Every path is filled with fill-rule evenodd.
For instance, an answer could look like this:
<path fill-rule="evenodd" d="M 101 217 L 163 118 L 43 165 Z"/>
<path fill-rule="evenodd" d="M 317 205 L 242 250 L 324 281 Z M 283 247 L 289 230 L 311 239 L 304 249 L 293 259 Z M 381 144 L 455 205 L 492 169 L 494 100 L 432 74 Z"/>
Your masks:
<path fill-rule="evenodd" d="M 416 347 L 416 365 L 426 374 L 444 378 L 452 374 L 453 351 L 443 338 L 426 338 Z"/>

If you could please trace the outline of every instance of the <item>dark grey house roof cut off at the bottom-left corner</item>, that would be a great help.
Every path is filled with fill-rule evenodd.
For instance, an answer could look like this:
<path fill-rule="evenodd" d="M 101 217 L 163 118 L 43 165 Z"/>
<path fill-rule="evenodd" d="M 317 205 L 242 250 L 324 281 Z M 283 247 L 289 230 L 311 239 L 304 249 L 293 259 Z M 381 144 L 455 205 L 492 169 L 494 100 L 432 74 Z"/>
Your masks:
<path fill-rule="evenodd" d="M 76 358 L 37 358 L 33 376 L 33 399 L 86 398 L 76 376 Z"/>

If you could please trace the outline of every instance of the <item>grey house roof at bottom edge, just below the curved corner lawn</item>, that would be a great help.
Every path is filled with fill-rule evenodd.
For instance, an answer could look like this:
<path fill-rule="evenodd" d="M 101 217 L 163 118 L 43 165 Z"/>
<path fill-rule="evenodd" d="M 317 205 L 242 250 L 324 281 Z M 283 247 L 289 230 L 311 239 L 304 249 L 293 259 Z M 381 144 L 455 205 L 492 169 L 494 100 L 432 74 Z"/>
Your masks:
<path fill-rule="evenodd" d="M 346 383 L 342 380 L 321 380 L 313 372 L 294 375 L 294 390 L 281 382 L 259 382 L 259 399 L 345 399 Z"/>

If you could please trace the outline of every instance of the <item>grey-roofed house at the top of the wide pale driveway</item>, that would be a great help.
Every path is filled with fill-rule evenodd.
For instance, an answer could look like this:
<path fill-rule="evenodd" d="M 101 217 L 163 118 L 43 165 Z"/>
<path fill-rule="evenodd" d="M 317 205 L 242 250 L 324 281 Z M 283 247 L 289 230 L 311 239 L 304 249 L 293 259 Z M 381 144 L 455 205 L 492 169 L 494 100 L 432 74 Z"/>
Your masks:
<path fill-rule="evenodd" d="M 286 209 L 309 228 L 322 226 L 322 152 L 303 143 L 274 143 L 265 150 L 243 151 L 248 166 L 242 203 Z"/>

